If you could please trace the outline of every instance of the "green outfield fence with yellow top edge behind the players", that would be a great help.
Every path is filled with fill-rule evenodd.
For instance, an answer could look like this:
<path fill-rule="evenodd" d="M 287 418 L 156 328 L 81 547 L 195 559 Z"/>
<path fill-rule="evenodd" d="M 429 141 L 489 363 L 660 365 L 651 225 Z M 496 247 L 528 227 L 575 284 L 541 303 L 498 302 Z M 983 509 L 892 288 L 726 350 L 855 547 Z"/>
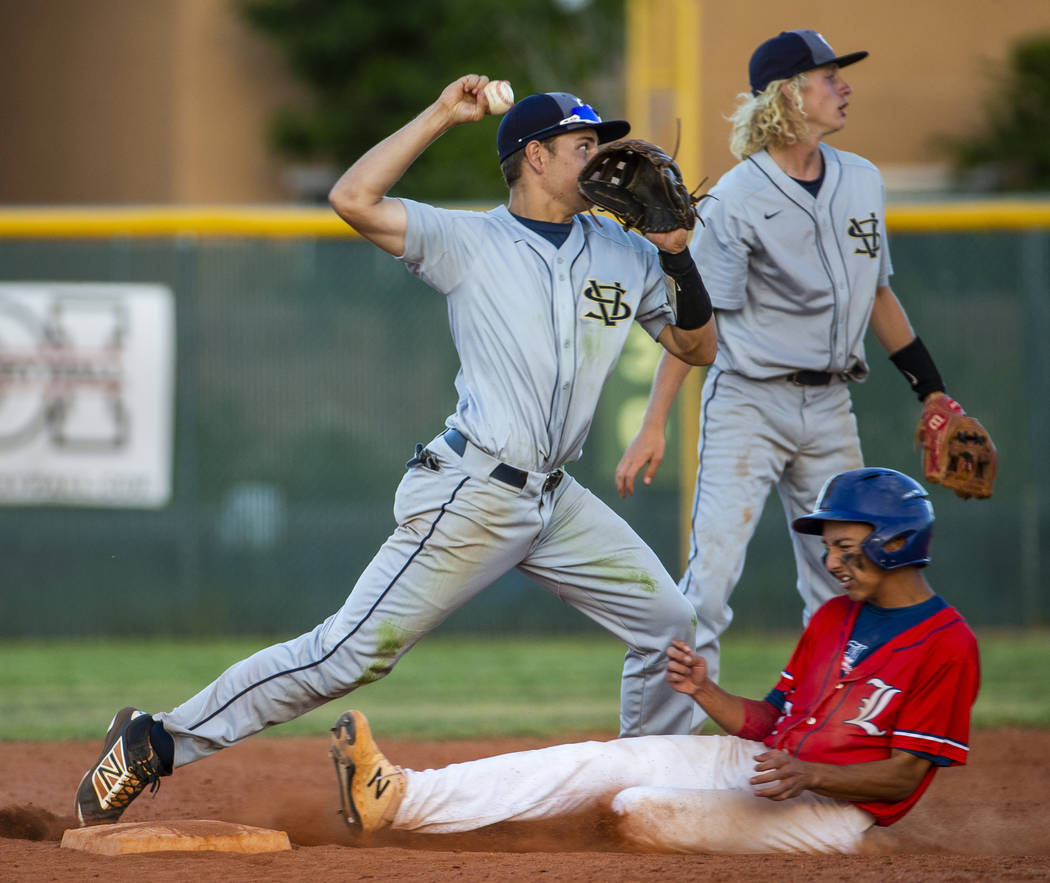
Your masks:
<path fill-rule="evenodd" d="M 1001 456 L 989 501 L 931 489 L 931 581 L 974 625 L 1046 625 L 1050 203 L 902 205 L 888 227 L 894 287 Z M 393 527 L 413 446 L 455 406 L 442 298 L 313 208 L 0 210 L 0 283 L 17 281 L 173 291 L 173 493 L 160 509 L 0 505 L 0 635 L 291 634 L 338 608 Z M 868 352 L 855 392 L 865 459 L 916 475 L 918 402 L 874 340 Z M 651 487 L 626 502 L 613 490 L 657 355 L 632 332 L 570 470 L 677 576 L 673 451 Z M 797 627 L 794 582 L 773 495 L 734 628 Z M 443 627 L 593 628 L 518 574 Z"/>

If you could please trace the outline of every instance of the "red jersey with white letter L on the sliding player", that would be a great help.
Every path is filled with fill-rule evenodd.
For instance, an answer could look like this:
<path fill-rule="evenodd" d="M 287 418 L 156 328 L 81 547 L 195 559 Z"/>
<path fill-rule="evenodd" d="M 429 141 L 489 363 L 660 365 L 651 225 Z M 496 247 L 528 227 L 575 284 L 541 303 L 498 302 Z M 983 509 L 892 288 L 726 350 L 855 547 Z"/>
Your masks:
<path fill-rule="evenodd" d="M 966 762 L 970 708 L 981 668 L 976 638 L 953 607 L 905 630 L 842 674 L 842 658 L 861 604 L 845 595 L 824 604 L 799 638 L 776 689 L 783 714 L 765 737 L 770 748 L 802 760 L 862 763 L 905 749 Z M 910 797 L 857 802 L 888 825 L 907 813 L 929 786 L 930 766 Z"/>

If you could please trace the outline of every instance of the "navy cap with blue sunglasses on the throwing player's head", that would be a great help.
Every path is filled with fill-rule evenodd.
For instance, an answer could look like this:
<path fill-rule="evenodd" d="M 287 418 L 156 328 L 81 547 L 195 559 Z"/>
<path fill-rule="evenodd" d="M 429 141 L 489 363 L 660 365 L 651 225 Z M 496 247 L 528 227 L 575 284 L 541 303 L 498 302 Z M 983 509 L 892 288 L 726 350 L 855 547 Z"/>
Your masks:
<path fill-rule="evenodd" d="M 603 121 L 589 104 L 568 92 L 541 92 L 523 98 L 500 122 L 496 147 L 502 163 L 530 141 L 543 141 L 575 129 L 594 129 L 598 144 L 615 141 L 631 130 L 626 120 Z"/>

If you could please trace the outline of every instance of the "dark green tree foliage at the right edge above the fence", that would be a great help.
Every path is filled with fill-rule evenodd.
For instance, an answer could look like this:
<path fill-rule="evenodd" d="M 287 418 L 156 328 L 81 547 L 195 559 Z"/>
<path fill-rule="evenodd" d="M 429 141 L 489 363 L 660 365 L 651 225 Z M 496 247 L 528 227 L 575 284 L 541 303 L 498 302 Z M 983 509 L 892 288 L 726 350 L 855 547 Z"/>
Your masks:
<path fill-rule="evenodd" d="M 983 130 L 950 149 L 968 189 L 1050 190 L 1050 34 L 1013 47 Z"/>

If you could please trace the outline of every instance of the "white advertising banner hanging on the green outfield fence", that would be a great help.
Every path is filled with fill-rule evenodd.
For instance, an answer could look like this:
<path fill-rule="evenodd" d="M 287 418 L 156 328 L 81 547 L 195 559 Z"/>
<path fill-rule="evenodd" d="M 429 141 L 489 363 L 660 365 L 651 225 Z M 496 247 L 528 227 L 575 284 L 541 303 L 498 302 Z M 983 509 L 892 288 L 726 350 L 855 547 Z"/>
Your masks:
<path fill-rule="evenodd" d="M 0 282 L 0 505 L 166 505 L 174 378 L 165 286 Z"/>

